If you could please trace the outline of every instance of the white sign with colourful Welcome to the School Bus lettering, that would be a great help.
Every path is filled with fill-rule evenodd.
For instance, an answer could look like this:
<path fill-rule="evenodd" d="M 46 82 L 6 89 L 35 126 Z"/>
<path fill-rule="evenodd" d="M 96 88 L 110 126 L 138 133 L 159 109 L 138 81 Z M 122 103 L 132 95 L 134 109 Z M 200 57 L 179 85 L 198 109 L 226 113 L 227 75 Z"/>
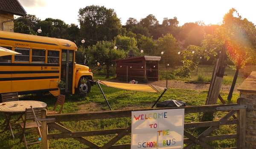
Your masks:
<path fill-rule="evenodd" d="M 131 112 L 131 149 L 183 149 L 184 109 Z"/>

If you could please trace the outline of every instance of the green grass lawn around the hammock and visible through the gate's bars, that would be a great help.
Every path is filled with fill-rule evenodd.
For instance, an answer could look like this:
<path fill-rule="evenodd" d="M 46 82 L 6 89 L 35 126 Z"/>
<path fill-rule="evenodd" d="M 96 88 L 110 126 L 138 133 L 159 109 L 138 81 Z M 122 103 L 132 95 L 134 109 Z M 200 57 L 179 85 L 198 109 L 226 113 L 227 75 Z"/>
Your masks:
<path fill-rule="evenodd" d="M 208 67 L 199 68 L 198 74 L 203 73 L 206 75 L 210 74 L 210 69 Z M 226 71 L 228 74 L 233 74 L 233 71 Z M 243 79 L 240 77 L 239 81 Z M 96 76 L 96 79 L 104 79 L 104 76 Z M 194 79 L 193 77 L 190 79 Z M 159 94 L 147 93 L 147 92 L 134 92 L 134 91 L 124 91 L 121 89 L 114 89 L 102 86 L 102 89 L 105 92 L 105 95 L 108 98 L 108 101 L 112 109 L 125 109 L 125 108 L 150 108 L 154 101 L 157 99 Z M 226 93 L 221 93 L 224 99 L 227 98 Z M 204 105 L 207 97 L 207 91 L 198 91 L 190 89 L 168 89 L 163 95 L 160 101 L 175 99 L 182 100 L 187 103 L 187 105 Z M 239 97 L 238 93 L 234 93 L 232 102 L 236 102 L 236 99 Z M 52 109 L 55 103 L 55 98 L 52 95 L 45 95 L 43 97 L 36 97 L 33 95 L 26 95 L 20 98 L 20 100 L 40 100 L 47 103 L 49 109 Z M 96 103 L 98 107 L 96 109 L 108 110 L 108 106 L 105 103 L 105 100 L 98 88 L 98 86 L 92 86 L 91 92 L 87 97 L 80 97 L 78 95 L 68 95 L 64 104 L 63 113 L 67 112 L 78 112 L 80 110 L 80 105 L 87 103 Z M 219 103 L 219 102 L 218 102 Z M 220 104 L 220 103 L 219 103 Z M 219 119 L 223 112 L 215 113 L 215 119 Z M 198 122 L 201 118 L 202 113 L 192 113 L 185 115 L 185 123 Z M 4 116 L 3 113 L 0 113 L 0 126 L 3 125 Z M 76 122 L 63 122 L 64 126 L 72 131 L 88 131 L 88 130 L 99 130 L 99 129 L 115 129 L 115 128 L 124 128 L 131 124 L 130 117 L 124 118 L 115 118 L 115 119 L 105 119 L 105 120 L 84 120 Z M 194 135 L 198 135 L 196 131 L 189 130 Z M 15 133 L 18 132 L 15 129 Z M 50 133 L 58 132 L 55 130 L 50 130 Z M 236 133 L 236 126 L 227 125 L 221 126 L 220 129 L 212 133 L 212 135 L 221 135 L 221 134 L 231 134 Z M 102 146 L 104 143 L 108 142 L 114 135 L 105 135 L 105 136 L 93 136 L 86 137 L 92 142 L 96 143 L 99 146 Z M 125 136 L 117 144 L 130 143 L 130 136 Z M 233 147 L 236 145 L 235 140 L 220 140 L 211 142 L 212 146 L 216 148 L 224 147 Z M 38 149 L 40 144 L 30 146 L 31 149 Z M 49 140 L 49 148 L 51 149 L 79 149 L 84 148 L 83 144 L 79 143 L 74 139 L 58 139 L 58 140 Z M 0 149 L 24 149 L 24 143 L 19 143 L 19 139 L 12 139 L 9 131 L 6 131 L 0 134 Z M 195 149 L 201 149 L 196 146 Z"/>

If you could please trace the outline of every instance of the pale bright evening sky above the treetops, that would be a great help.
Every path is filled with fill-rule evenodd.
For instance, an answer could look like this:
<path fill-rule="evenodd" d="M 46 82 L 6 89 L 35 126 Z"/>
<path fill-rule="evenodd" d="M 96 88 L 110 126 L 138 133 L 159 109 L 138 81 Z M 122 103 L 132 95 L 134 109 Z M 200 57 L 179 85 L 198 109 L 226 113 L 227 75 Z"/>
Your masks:
<path fill-rule="evenodd" d="M 47 17 L 79 25 L 78 11 L 90 5 L 105 6 L 116 11 L 123 25 L 129 17 L 138 21 L 153 14 L 159 23 L 164 17 L 177 17 L 179 26 L 203 21 L 221 24 L 224 14 L 235 8 L 243 18 L 256 23 L 254 0 L 19 0 L 28 14 L 41 20 Z"/>

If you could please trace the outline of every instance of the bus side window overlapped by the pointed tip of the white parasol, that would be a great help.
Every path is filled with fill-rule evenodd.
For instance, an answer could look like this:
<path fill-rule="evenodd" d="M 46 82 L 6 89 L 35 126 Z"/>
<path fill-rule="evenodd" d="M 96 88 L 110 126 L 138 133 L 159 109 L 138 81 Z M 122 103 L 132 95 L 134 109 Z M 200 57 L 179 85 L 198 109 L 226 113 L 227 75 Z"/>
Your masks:
<path fill-rule="evenodd" d="M 21 53 L 14 56 L 15 62 L 29 62 L 29 49 L 15 48 L 15 51 Z"/>

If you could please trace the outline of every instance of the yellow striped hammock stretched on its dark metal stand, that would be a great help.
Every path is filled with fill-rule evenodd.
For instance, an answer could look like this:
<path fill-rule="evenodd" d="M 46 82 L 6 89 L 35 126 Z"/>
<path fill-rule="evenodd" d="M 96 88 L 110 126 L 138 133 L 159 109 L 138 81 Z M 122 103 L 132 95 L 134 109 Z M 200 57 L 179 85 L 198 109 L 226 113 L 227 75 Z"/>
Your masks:
<path fill-rule="evenodd" d="M 164 87 L 154 86 L 152 84 L 144 85 L 144 84 L 117 83 L 117 82 L 109 82 L 109 81 L 98 80 L 97 84 L 98 84 L 99 89 L 101 90 L 102 95 L 105 98 L 106 103 L 108 104 L 108 107 L 109 107 L 110 110 L 112 110 L 111 106 L 109 105 L 108 100 L 107 100 L 107 98 L 106 98 L 106 96 L 105 96 L 101 86 L 99 85 L 99 83 L 101 83 L 101 84 L 103 84 L 105 86 L 113 87 L 113 88 L 117 88 L 117 89 L 134 90 L 134 91 L 140 91 L 140 92 L 156 92 L 156 93 L 159 93 L 159 91 L 163 90 L 162 94 L 158 97 L 158 99 L 156 100 L 156 102 L 154 103 L 152 108 L 157 104 L 158 100 L 160 100 L 160 98 L 163 96 L 163 94 L 167 90 Z"/>

